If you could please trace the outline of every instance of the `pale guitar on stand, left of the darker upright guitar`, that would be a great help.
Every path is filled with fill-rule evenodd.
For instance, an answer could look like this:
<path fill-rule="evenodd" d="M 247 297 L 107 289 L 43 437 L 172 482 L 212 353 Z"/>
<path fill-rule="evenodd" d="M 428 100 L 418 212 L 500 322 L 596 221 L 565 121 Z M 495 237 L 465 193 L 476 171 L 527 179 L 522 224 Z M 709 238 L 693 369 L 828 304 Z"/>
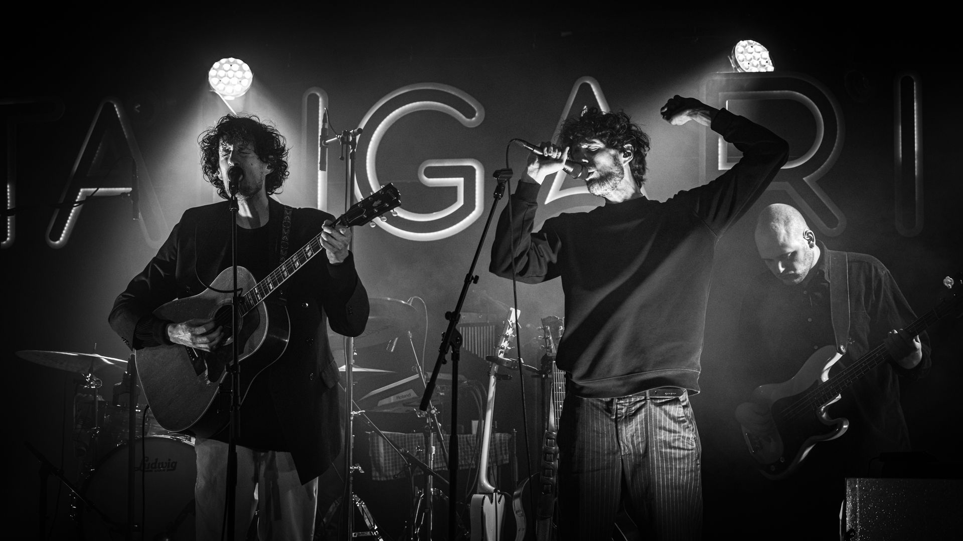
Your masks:
<path fill-rule="evenodd" d="M 515 322 L 519 312 L 508 309 L 505 331 L 496 348 L 495 356 L 505 357 L 508 343 L 515 333 Z M 485 402 L 484 420 L 481 422 L 481 449 L 479 450 L 479 478 L 476 494 L 470 502 L 471 541 L 496 541 L 500 539 L 502 523 L 505 520 L 505 493 L 499 492 L 488 480 L 488 446 L 491 445 L 492 412 L 495 409 L 495 383 L 498 381 L 498 364 L 491 362 L 488 367 L 488 399 Z"/>

